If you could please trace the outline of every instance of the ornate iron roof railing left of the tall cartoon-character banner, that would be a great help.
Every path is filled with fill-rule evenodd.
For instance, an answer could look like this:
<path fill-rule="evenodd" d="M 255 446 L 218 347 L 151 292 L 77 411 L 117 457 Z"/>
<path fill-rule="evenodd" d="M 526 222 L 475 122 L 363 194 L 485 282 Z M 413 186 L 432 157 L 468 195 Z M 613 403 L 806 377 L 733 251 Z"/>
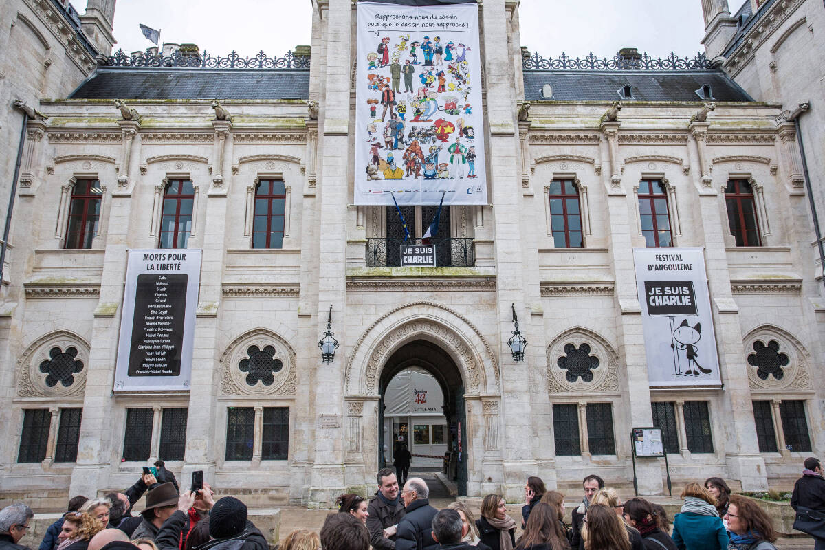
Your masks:
<path fill-rule="evenodd" d="M 234 50 L 226 57 L 213 57 L 204 50 L 186 52 L 176 50 L 163 55 L 147 49 L 139 54 L 125 54 L 119 49 L 106 58 L 106 67 L 148 67 L 148 68 L 309 68 L 309 55 L 295 55 L 286 52 L 284 57 L 266 57 L 263 51 L 255 57 L 241 57 Z"/>

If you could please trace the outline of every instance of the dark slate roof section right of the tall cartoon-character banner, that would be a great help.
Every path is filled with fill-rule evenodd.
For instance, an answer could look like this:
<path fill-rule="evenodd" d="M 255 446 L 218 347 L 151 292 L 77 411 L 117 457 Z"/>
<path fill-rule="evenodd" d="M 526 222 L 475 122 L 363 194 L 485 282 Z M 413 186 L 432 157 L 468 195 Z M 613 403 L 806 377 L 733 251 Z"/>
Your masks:
<path fill-rule="evenodd" d="M 710 86 L 711 101 L 753 101 L 725 73 L 719 71 L 548 71 L 525 70 L 526 101 L 547 99 L 544 84 L 553 87 L 557 101 L 704 101 L 695 91 Z M 633 99 L 619 91 L 629 84 Z"/>

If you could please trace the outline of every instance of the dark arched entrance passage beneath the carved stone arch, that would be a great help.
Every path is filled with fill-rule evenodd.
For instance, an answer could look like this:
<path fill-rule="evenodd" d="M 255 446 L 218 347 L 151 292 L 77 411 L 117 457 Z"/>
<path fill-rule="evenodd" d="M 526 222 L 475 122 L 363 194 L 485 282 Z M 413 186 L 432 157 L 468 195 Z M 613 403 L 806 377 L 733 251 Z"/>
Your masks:
<path fill-rule="evenodd" d="M 392 461 L 395 445 L 408 444 L 408 448 L 414 437 L 414 425 L 407 425 L 407 434 L 403 435 L 403 429 L 394 430 L 389 428 L 384 421 L 386 411 L 385 399 L 387 398 L 387 388 L 396 375 L 408 372 L 410 369 L 421 369 L 427 374 L 431 374 L 441 387 L 444 396 L 442 411 L 446 419 L 446 430 L 443 433 L 443 440 L 446 442 L 447 474 L 454 479 L 458 487 L 460 496 L 467 494 L 467 419 L 466 407 L 464 404 L 464 381 L 461 372 L 450 355 L 445 350 L 426 340 L 414 340 L 395 350 L 389 356 L 384 369 L 381 370 L 379 380 L 380 402 L 378 407 L 378 454 L 379 468 L 384 468 Z M 415 416 L 411 416 L 414 418 Z M 429 424 L 424 420 L 421 426 L 427 426 L 427 440 L 431 441 L 436 435 L 436 425 Z M 399 439 L 399 435 L 403 435 Z M 423 438 L 423 435 L 421 435 Z"/>

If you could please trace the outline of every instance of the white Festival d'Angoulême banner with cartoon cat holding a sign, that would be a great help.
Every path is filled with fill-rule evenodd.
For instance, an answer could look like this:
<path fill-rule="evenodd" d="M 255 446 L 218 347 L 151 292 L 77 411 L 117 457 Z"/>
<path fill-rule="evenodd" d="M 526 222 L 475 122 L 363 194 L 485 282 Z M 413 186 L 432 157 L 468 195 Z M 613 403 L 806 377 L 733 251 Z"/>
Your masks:
<path fill-rule="evenodd" d="M 722 384 L 701 248 L 634 248 L 652 388 Z"/>

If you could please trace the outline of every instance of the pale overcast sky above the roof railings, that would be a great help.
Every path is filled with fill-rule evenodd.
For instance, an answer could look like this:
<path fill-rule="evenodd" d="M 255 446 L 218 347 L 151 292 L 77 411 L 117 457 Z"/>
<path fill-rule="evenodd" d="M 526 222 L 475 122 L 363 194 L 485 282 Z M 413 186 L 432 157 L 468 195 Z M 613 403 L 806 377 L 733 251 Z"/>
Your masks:
<path fill-rule="evenodd" d="M 75 7 L 84 10 L 85 0 Z M 736 2 L 732 2 L 736 3 Z M 281 56 L 309 44 L 310 0 L 119 0 L 115 50 L 127 53 L 152 45 L 139 23 L 161 29 L 162 42 L 194 42 L 211 54 L 233 49 L 242 56 L 260 50 Z M 693 57 L 704 35 L 701 0 L 521 0 L 521 44 L 545 57 L 563 51 L 584 57 L 592 51 L 612 57 L 625 46 L 664 57 L 672 51 Z"/>

